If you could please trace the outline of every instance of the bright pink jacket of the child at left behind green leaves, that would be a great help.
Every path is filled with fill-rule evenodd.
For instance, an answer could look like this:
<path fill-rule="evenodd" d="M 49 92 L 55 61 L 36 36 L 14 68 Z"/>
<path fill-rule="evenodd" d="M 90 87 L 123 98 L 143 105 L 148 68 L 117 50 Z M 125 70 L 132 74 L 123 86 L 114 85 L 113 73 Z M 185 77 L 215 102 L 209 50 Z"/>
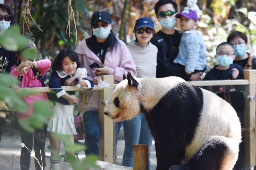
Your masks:
<path fill-rule="evenodd" d="M 42 76 L 47 72 L 47 70 L 51 67 L 51 61 L 48 59 L 37 61 L 38 68 L 41 71 Z M 18 78 L 19 73 L 15 70 L 17 66 L 14 65 L 11 68 L 11 75 L 15 78 Z M 27 74 L 23 76 L 23 79 L 20 83 L 20 87 L 42 87 L 40 80 L 33 78 L 34 73 L 32 69 L 29 69 Z M 29 105 L 29 111 L 27 113 L 17 113 L 17 118 L 20 119 L 28 119 L 30 115 L 32 115 L 32 104 L 35 101 L 39 100 L 48 100 L 46 92 L 38 93 L 37 95 L 29 95 L 23 98 L 24 101 Z"/>

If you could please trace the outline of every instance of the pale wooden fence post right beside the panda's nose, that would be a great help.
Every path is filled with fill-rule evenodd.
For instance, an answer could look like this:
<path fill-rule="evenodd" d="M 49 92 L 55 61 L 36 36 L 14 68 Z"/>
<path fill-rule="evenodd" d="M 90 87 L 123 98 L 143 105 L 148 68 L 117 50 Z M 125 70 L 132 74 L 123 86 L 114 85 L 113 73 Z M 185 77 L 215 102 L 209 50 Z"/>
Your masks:
<path fill-rule="evenodd" d="M 109 87 L 98 90 L 98 105 L 99 105 L 99 122 L 100 122 L 100 135 L 99 135 L 99 157 L 104 162 L 114 163 L 114 121 L 104 115 L 106 106 L 102 104 L 103 100 L 110 100 L 113 92 L 114 76 L 103 75 L 103 81 L 109 83 Z"/>

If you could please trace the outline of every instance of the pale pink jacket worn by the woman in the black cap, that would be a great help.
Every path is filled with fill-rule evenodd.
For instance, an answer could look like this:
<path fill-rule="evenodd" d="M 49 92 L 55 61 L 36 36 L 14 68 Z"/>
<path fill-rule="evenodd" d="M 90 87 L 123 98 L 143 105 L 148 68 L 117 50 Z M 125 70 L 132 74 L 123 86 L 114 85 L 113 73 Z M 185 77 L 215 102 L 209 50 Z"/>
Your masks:
<path fill-rule="evenodd" d="M 89 37 L 87 37 L 89 38 Z M 112 51 L 107 51 L 105 55 L 104 65 L 102 65 L 99 57 L 94 54 L 86 45 L 86 39 L 84 38 L 81 43 L 76 47 L 75 52 L 79 56 L 81 67 L 85 67 L 87 70 L 87 79 L 93 80 L 96 74 L 89 65 L 97 62 L 101 66 L 108 66 L 109 73 L 114 75 L 114 83 L 119 83 L 123 80 L 123 74 L 127 75 L 131 72 L 133 77 L 136 77 L 135 62 L 126 47 L 124 41 L 118 39 L 118 46 Z M 79 95 L 78 108 L 82 111 L 83 93 Z M 84 112 L 86 111 L 98 111 L 98 93 L 97 91 L 86 91 L 86 99 L 84 104 Z"/>

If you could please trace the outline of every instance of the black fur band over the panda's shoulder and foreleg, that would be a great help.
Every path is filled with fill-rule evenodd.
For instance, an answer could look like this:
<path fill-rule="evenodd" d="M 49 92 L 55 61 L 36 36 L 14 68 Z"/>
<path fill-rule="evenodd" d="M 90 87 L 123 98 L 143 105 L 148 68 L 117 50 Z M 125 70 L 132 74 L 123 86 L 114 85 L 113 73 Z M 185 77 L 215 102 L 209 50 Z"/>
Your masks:
<path fill-rule="evenodd" d="M 152 111 L 145 112 L 155 139 L 158 153 L 156 156 L 161 160 L 157 163 L 159 169 L 181 164 L 186 145 L 194 137 L 202 107 L 202 90 L 197 86 L 181 82 L 170 89 Z M 166 145 L 166 148 L 158 147 L 159 145 Z M 172 160 L 165 160 L 167 157 L 172 157 Z M 166 163 L 169 165 L 165 165 Z"/>

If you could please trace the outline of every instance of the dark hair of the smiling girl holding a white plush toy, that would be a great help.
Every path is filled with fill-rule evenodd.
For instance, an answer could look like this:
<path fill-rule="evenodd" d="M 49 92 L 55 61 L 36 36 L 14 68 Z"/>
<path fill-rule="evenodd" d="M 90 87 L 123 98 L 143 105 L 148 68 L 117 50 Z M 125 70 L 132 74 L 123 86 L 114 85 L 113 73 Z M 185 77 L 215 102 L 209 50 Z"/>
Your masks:
<path fill-rule="evenodd" d="M 79 58 L 76 52 L 70 48 L 64 48 L 60 50 L 60 52 L 58 53 L 58 55 L 56 56 L 53 62 L 53 67 L 52 67 L 53 71 L 57 71 L 59 69 L 62 70 L 62 61 L 66 56 L 68 56 L 71 61 L 76 62 L 76 68 L 80 67 Z"/>

